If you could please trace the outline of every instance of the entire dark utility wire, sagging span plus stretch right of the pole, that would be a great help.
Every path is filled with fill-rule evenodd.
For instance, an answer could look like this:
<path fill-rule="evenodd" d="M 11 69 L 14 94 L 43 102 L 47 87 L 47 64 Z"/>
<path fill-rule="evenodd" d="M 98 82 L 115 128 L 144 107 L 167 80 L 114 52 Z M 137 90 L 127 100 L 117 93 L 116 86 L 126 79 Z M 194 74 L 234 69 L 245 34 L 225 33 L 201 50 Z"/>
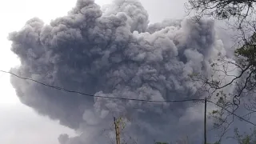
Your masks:
<path fill-rule="evenodd" d="M 14 74 L 14 73 L 9 72 L 9 71 L 0 70 L 0 72 L 6 73 L 6 74 L 11 74 L 11 75 L 13 75 L 13 76 L 15 76 L 17 78 L 21 78 L 21 79 L 24 79 L 24 80 L 36 82 L 38 84 L 41 84 L 43 86 L 47 86 L 47 87 L 50 87 L 50 88 L 53 88 L 53 89 L 56 89 L 56 90 L 62 90 L 62 91 L 68 92 L 68 93 L 82 94 L 82 95 L 85 95 L 85 96 L 88 96 L 88 97 L 94 97 L 94 98 L 110 98 L 110 99 L 121 99 L 121 100 L 130 100 L 130 101 L 139 101 L 139 102 L 194 102 L 194 101 L 197 101 L 197 102 L 202 101 L 203 102 L 205 100 L 205 99 L 195 99 L 194 98 L 194 99 L 183 99 L 183 100 L 154 101 L 154 100 L 146 100 L 146 99 L 118 98 L 118 97 L 108 97 L 108 96 L 100 96 L 100 95 L 94 95 L 94 94 L 85 94 L 85 93 L 82 93 L 82 92 L 79 92 L 79 91 L 75 91 L 75 90 L 67 90 L 65 88 L 58 87 L 58 86 L 50 86 L 50 85 L 48 85 L 46 83 L 38 82 L 38 81 L 36 81 L 36 80 L 34 80 L 32 78 L 24 78 L 22 76 L 19 76 L 18 74 Z M 248 122 L 248 123 L 256 126 L 256 124 L 254 124 L 253 122 L 250 122 L 250 121 L 246 120 L 245 118 L 242 118 L 241 116 L 238 116 L 237 114 L 232 113 L 230 110 L 227 110 L 226 108 L 224 108 L 223 106 L 218 105 L 215 102 L 211 102 L 210 100 L 207 100 L 207 102 L 213 103 L 214 105 L 219 106 L 222 109 L 226 110 L 230 114 L 233 114 L 235 117 L 240 118 L 243 121 Z"/>

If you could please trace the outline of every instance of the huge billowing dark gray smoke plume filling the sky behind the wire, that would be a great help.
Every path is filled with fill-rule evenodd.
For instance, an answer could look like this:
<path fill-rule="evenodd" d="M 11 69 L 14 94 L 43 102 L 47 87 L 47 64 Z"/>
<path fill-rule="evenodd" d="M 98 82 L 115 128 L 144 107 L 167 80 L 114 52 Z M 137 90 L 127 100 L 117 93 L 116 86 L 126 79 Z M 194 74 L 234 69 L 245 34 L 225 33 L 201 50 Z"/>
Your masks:
<path fill-rule="evenodd" d="M 148 18 L 137 0 L 116 0 L 104 10 L 93 0 L 78 0 L 50 25 L 32 18 L 10 34 L 11 50 L 21 61 L 12 72 L 86 94 L 202 98 L 188 74 L 210 74 L 210 62 L 226 54 L 214 22 L 186 18 L 149 25 Z M 113 116 L 126 118 L 126 134 L 139 143 L 202 136 L 201 104 L 91 98 L 14 77 L 11 81 L 25 105 L 79 131 L 75 138 L 62 134 L 62 144 L 108 143 L 102 130 L 111 127 Z"/>

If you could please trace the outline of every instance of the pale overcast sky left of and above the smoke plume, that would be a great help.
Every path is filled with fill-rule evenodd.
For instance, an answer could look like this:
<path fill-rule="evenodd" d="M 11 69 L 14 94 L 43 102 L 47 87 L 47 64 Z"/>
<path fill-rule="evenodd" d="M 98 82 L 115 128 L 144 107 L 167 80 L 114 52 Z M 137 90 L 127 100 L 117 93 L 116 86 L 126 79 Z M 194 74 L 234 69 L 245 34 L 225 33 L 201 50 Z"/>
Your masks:
<path fill-rule="evenodd" d="M 19 30 L 33 17 L 49 23 L 51 19 L 65 15 L 75 4 L 75 0 L 8 0 L 0 2 L 0 70 L 10 70 L 18 66 L 18 58 L 10 51 L 7 36 Z M 111 0 L 96 0 L 102 6 Z M 185 0 L 141 0 L 150 15 L 150 22 L 163 19 L 182 18 Z M 55 7 L 58 7 L 55 10 Z M 22 105 L 10 85 L 8 74 L 0 73 L 0 143 L 5 144 L 58 144 L 58 135 L 74 134 L 73 130 L 60 126 L 50 118 L 39 116 L 34 110 Z M 40 125 L 39 125 L 40 123 Z"/>

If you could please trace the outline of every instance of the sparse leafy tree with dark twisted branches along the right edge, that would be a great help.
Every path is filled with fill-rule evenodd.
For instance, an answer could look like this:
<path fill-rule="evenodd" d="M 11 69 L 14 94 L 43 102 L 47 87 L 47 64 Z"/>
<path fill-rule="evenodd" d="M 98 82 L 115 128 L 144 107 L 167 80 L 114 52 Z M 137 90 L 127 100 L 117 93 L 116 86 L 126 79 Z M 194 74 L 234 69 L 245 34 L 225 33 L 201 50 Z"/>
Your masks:
<path fill-rule="evenodd" d="M 239 106 L 249 111 L 243 118 L 249 118 L 250 114 L 256 112 L 255 4 L 256 0 L 189 0 L 186 3 L 189 13 L 195 12 L 195 18 L 210 16 L 223 20 L 230 29 L 239 32 L 233 59 L 220 56 L 218 62 L 212 63 L 214 74 L 210 76 L 190 75 L 193 80 L 202 82 L 202 90 L 207 92 L 210 98 L 217 98 L 218 105 L 223 107 L 211 113 L 212 118 L 216 120 L 214 127 L 222 129 L 221 138 L 234 122 L 232 115 Z M 234 90 L 226 90 L 228 87 Z M 226 113 L 225 110 L 230 110 L 231 113 Z"/>

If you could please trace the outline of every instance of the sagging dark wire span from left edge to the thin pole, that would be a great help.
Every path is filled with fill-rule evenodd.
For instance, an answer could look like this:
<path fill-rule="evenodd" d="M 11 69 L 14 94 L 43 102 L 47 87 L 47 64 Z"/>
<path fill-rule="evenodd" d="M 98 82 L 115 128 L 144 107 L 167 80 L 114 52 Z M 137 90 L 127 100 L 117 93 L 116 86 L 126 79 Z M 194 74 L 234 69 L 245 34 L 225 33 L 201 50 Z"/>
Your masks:
<path fill-rule="evenodd" d="M 199 102 L 199 101 L 204 100 L 204 99 L 195 99 L 194 98 L 194 99 L 183 99 L 183 100 L 154 101 L 154 100 L 137 99 L 137 98 L 119 98 L 119 97 L 100 96 L 100 95 L 94 95 L 94 94 L 85 94 L 85 93 L 75 91 L 75 90 L 67 90 L 66 88 L 62 88 L 62 87 L 58 87 L 58 86 L 50 86 L 46 83 L 39 82 L 39 81 L 34 80 L 32 78 L 24 78 L 22 76 L 19 76 L 18 74 L 14 74 L 14 73 L 11 73 L 11 72 L 8 72 L 8 71 L 0 70 L 0 72 L 14 75 L 17 78 L 21 78 L 21 79 L 25 79 L 25 80 L 28 80 L 28 81 L 36 82 L 38 84 L 41 84 L 43 86 L 47 86 L 47 87 L 50 87 L 50 88 L 53 88 L 53 89 L 56 89 L 56 90 L 62 90 L 62 91 L 68 92 L 68 93 L 82 94 L 82 95 L 85 95 L 85 96 L 88 96 L 88 97 L 95 97 L 95 98 L 110 98 L 110 99 L 121 99 L 121 100 L 130 100 L 130 101 L 139 101 L 139 102 L 194 102 L 194 101 Z"/>

